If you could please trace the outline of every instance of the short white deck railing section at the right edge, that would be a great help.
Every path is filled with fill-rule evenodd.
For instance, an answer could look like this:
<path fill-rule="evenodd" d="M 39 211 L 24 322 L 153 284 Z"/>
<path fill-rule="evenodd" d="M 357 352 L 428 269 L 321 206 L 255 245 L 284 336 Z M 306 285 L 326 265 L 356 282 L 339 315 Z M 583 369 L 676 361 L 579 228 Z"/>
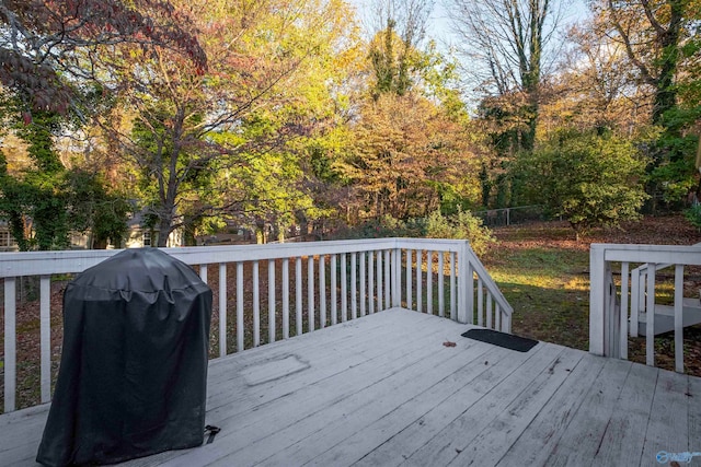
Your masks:
<path fill-rule="evenodd" d="M 614 265 L 620 265 L 620 289 L 612 279 Z M 628 359 L 628 337 L 637 336 L 639 313 L 646 310 L 645 361 L 654 366 L 656 275 L 660 268 L 674 267 L 675 370 L 683 373 L 685 266 L 701 266 L 701 247 L 593 244 L 589 351 Z"/>

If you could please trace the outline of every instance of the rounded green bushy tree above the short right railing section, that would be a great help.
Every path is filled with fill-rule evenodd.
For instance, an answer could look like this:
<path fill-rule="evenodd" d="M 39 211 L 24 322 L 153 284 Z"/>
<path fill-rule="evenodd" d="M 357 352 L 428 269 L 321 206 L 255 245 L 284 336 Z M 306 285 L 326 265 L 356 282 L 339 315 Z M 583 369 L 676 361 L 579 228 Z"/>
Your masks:
<path fill-rule="evenodd" d="M 555 132 L 518 161 L 531 200 L 567 220 L 577 240 L 591 227 L 637 219 L 647 197 L 644 167 L 630 141 L 574 130 Z"/>

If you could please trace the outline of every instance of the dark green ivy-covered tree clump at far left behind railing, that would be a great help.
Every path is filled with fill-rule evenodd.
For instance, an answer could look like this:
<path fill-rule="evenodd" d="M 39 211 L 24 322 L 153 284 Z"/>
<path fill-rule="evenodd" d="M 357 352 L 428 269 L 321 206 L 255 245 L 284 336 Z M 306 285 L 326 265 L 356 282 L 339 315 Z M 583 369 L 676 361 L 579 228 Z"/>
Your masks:
<path fill-rule="evenodd" d="M 18 113 L 10 108 L 8 115 Z M 21 250 L 66 248 L 71 231 L 90 233 L 91 247 L 105 247 L 108 240 L 118 245 L 126 233 L 124 199 L 111 195 L 96 173 L 61 163 L 55 142 L 66 127 L 65 116 L 34 110 L 28 124 L 15 121 L 13 128 L 25 143 L 27 166 L 11 171 L 0 154 L 0 218 Z"/>

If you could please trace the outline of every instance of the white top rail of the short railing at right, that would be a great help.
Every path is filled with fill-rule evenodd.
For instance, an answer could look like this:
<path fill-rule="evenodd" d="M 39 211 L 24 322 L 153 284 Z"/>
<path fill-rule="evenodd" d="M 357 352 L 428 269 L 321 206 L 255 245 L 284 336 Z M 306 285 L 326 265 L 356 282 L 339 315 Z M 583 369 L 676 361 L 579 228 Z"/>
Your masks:
<path fill-rule="evenodd" d="M 591 244 L 594 254 L 602 253 L 606 261 L 655 262 L 701 266 L 701 245 L 624 245 Z"/>

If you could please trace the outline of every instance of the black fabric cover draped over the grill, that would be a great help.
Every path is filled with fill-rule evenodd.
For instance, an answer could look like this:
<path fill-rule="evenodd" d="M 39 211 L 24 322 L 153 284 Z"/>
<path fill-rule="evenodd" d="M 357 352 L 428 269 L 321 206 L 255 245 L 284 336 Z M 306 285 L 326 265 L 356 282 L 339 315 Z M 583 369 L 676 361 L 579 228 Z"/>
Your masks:
<path fill-rule="evenodd" d="M 156 248 L 87 269 L 64 295 L 64 351 L 36 460 L 110 464 L 204 441 L 211 290 Z"/>

